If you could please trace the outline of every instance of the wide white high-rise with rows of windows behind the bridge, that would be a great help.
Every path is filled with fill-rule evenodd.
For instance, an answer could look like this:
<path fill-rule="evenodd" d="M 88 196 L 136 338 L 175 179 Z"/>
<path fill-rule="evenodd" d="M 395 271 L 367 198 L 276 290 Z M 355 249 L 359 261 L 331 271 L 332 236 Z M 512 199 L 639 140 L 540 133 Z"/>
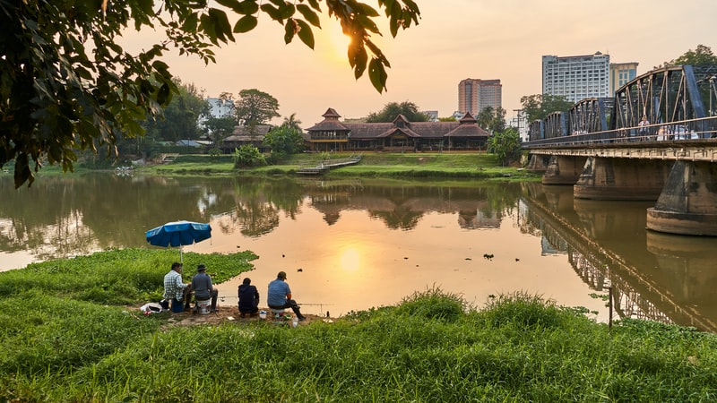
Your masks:
<path fill-rule="evenodd" d="M 543 56 L 543 94 L 562 95 L 570 102 L 610 97 L 610 56 Z"/>

